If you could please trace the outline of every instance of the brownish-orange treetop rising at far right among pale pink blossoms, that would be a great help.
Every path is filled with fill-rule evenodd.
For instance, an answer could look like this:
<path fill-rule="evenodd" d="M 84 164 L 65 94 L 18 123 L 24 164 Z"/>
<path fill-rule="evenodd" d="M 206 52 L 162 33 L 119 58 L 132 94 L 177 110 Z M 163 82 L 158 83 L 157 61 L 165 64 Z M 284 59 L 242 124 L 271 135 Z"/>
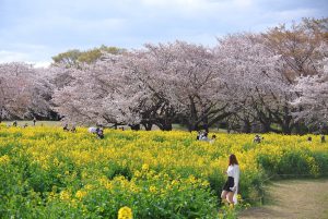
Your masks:
<path fill-rule="evenodd" d="M 318 48 L 327 42 L 328 19 L 303 19 L 291 27 L 280 25 L 262 34 L 265 44 L 284 60 L 284 75 L 293 83 L 301 75 L 317 74 L 316 62 L 323 59 Z"/>

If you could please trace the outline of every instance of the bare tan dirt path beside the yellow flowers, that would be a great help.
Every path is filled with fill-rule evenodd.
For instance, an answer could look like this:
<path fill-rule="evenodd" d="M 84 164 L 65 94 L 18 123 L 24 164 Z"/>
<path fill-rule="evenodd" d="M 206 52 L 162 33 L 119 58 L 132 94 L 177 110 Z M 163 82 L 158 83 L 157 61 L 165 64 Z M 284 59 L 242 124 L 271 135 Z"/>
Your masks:
<path fill-rule="evenodd" d="M 328 179 L 284 180 L 268 186 L 268 202 L 239 219 L 328 219 Z"/>

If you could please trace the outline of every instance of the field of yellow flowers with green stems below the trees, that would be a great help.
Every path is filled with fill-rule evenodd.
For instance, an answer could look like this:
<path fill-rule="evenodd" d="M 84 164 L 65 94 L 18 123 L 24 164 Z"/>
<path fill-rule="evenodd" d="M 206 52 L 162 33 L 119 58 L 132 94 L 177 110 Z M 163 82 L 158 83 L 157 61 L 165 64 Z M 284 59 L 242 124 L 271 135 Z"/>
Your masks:
<path fill-rule="evenodd" d="M 82 127 L 0 126 L 0 218 L 117 218 L 124 206 L 133 218 L 219 218 L 232 153 L 250 203 L 269 177 L 328 173 L 319 136 L 253 137 L 216 134 L 209 144 L 183 131 L 105 130 L 98 139 Z"/>

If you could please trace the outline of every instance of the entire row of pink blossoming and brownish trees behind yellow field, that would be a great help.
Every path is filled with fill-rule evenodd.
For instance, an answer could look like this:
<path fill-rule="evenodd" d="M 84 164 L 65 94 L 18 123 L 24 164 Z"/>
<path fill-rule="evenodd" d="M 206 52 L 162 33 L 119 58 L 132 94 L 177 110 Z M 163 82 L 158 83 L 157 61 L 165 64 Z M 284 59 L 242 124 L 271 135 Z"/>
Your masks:
<path fill-rule="evenodd" d="M 214 47 L 174 41 L 69 50 L 46 69 L 0 64 L 0 121 L 244 133 L 327 132 L 328 19 L 304 19 Z"/>

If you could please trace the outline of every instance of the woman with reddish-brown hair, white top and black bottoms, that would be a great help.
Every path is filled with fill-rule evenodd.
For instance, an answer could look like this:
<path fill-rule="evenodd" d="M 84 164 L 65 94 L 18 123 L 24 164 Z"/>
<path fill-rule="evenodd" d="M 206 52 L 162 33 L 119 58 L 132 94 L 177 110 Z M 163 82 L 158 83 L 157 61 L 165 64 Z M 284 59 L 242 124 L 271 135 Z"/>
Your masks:
<path fill-rule="evenodd" d="M 229 167 L 226 170 L 227 180 L 222 188 L 221 198 L 229 204 L 237 204 L 238 183 L 239 183 L 239 165 L 235 155 L 230 155 Z"/>

